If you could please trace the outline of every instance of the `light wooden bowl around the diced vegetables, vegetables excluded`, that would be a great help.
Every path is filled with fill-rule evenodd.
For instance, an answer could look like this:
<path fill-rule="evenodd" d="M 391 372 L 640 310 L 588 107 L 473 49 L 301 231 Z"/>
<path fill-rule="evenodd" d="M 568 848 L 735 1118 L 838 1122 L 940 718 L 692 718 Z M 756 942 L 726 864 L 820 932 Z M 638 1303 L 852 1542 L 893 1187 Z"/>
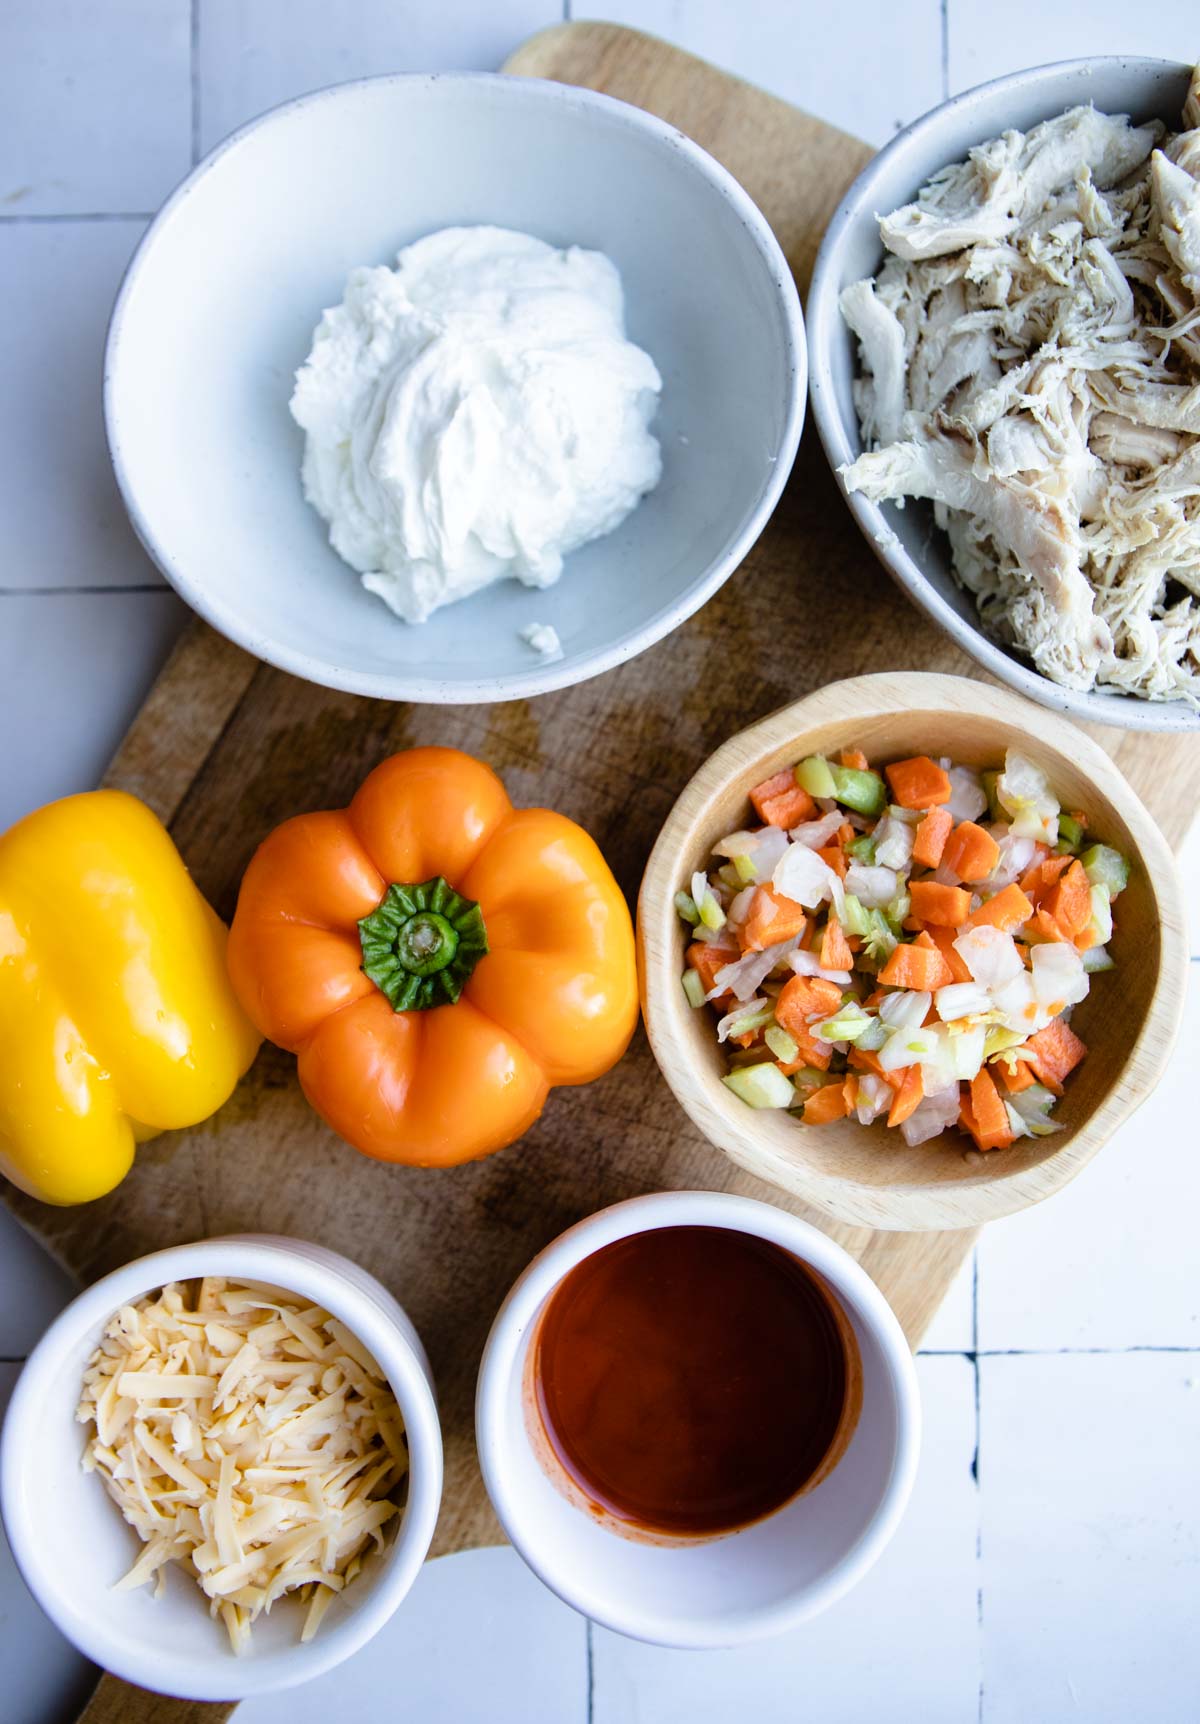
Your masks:
<path fill-rule="evenodd" d="M 803 755 L 859 745 L 871 762 L 952 755 L 1002 765 L 1017 745 L 1048 776 L 1064 807 L 1084 809 L 1097 838 L 1131 862 L 1114 915 L 1116 969 L 1095 978 L 1072 1026 L 1088 1057 L 1071 1076 L 1050 1138 L 972 1153 L 947 1131 L 909 1148 L 898 1131 L 853 1119 L 803 1126 L 755 1110 L 722 1083 L 709 1010 L 679 986 L 684 928 L 674 895 L 712 845 L 747 824 L 753 784 Z M 695 1124 L 734 1162 L 834 1221 L 922 1231 L 972 1227 L 1010 1215 L 1064 1186 L 1145 1102 L 1179 1031 L 1188 945 L 1174 857 L 1112 760 L 1067 719 L 1000 688 L 957 676 L 884 674 L 833 683 L 733 736 L 676 802 L 653 846 L 638 900 L 638 962 L 650 1045 Z"/>

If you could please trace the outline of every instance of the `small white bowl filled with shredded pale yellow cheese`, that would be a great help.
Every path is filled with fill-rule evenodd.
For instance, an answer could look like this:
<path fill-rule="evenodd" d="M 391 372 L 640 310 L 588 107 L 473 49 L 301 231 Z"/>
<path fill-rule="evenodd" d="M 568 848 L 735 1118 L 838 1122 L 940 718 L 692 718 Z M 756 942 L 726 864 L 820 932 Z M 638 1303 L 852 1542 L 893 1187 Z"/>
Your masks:
<path fill-rule="evenodd" d="M 3 1512 L 48 1615 L 186 1698 L 307 1681 L 433 1536 L 428 1362 L 383 1286 L 302 1241 L 209 1240 L 81 1295 L 17 1384 Z"/>

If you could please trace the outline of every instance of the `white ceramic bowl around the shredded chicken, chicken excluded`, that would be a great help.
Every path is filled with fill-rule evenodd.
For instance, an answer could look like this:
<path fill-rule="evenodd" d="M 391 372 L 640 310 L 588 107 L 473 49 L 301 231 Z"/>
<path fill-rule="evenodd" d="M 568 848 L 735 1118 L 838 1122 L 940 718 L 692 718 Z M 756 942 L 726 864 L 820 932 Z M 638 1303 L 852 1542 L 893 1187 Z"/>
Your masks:
<path fill-rule="evenodd" d="M 1086 26 L 1081 26 L 1086 33 Z M 1162 119 L 1179 129 L 1190 67 L 1174 60 L 1097 55 L 1012 72 L 943 102 L 874 157 L 838 205 L 817 253 L 809 293 L 809 355 L 812 417 L 829 464 L 836 469 L 862 453 L 850 384 L 857 369 L 855 340 L 838 312 L 838 295 L 850 281 L 872 276 L 883 262 L 876 216 L 909 203 L 940 167 L 1009 128 L 1026 131 L 1081 102 L 1134 121 Z M 1129 695 L 1076 693 L 1041 676 L 1033 665 L 983 633 L 974 600 L 955 584 L 945 534 L 924 503 L 897 509 L 847 498 L 867 543 L 893 579 L 928 615 L 993 676 L 1047 707 L 1097 724 L 1128 729 L 1200 729 L 1200 714 L 1183 702 L 1136 700 Z"/>

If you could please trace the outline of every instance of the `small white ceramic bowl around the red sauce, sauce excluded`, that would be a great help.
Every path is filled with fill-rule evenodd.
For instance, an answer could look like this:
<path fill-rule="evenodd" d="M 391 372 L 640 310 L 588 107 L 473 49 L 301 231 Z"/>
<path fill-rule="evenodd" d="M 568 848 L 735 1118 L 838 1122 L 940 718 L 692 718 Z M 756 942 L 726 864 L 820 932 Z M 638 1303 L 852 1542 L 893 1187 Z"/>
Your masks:
<path fill-rule="evenodd" d="M 578 1262 L 633 1233 L 697 1226 L 771 1240 L 826 1279 L 859 1346 L 862 1410 L 833 1471 L 766 1521 L 724 1538 L 653 1545 L 607 1531 L 547 1476 L 526 1424 L 526 1357 L 540 1312 Z M 514 1284 L 483 1352 L 476 1440 L 505 1533 L 566 1603 L 634 1640 L 731 1646 L 816 1615 L 866 1574 L 912 1490 L 921 1407 L 903 1331 L 840 1245 L 752 1198 L 659 1191 L 569 1227 Z"/>

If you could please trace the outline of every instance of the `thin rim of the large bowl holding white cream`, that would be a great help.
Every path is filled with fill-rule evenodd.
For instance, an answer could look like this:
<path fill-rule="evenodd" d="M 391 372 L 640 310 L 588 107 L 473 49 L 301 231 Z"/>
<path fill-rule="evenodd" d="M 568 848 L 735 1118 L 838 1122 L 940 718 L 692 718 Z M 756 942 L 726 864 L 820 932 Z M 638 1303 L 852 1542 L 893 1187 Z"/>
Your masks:
<path fill-rule="evenodd" d="M 398 90 L 421 88 L 424 91 L 431 91 L 434 88 L 460 88 L 467 84 L 493 90 L 502 88 L 505 91 L 516 91 L 526 98 L 533 98 L 534 102 L 547 102 L 564 109 L 588 109 L 600 112 L 610 121 L 628 126 L 631 131 L 641 131 L 657 138 L 666 148 L 681 155 L 693 167 L 693 171 L 702 179 L 709 181 L 709 184 L 731 205 L 738 221 L 755 245 L 776 290 L 781 324 L 781 369 L 786 371 L 790 378 L 790 391 L 779 445 L 767 464 L 767 478 L 762 484 L 757 503 L 747 515 L 741 529 L 726 545 L 724 552 L 707 564 L 703 571 L 700 571 L 684 593 L 657 610 L 648 622 L 626 629 L 626 633 L 614 640 L 609 646 L 590 653 L 583 662 L 574 665 L 566 660 L 545 665 L 533 664 L 528 671 L 509 676 L 472 678 L 459 683 L 438 678 L 422 678 L 405 671 L 398 671 L 397 674 L 362 672 L 343 664 L 328 664 L 310 653 L 279 646 L 255 633 L 255 629 L 248 628 L 228 605 L 214 600 L 205 591 L 202 581 L 197 583 L 181 571 L 178 560 L 155 536 L 138 502 L 136 483 L 129 471 L 121 440 L 121 424 L 114 402 L 114 379 L 121 364 L 121 347 L 129 297 L 159 233 L 176 216 L 191 191 L 217 166 L 217 162 L 236 150 L 238 145 L 252 133 L 259 131 L 259 128 L 271 126 L 300 109 L 324 102 L 345 100 L 347 97 L 353 97 L 359 90 L 388 84 Z M 369 695 L 383 700 L 426 702 L 431 705 L 476 705 L 481 702 L 522 700 L 533 695 L 548 695 L 559 688 L 572 688 L 576 683 L 586 683 L 593 676 L 602 676 L 605 671 L 612 671 L 616 665 L 624 664 L 628 659 L 634 659 L 648 646 L 653 646 L 681 622 L 686 622 L 690 615 L 700 610 L 700 607 L 712 598 L 712 595 L 745 560 L 779 502 L 783 486 L 788 481 L 788 474 L 791 472 L 797 450 L 800 447 L 800 433 L 803 431 L 807 405 L 807 383 L 809 355 L 800 291 L 795 284 L 779 241 L 750 193 L 738 184 L 733 174 L 728 172 L 728 169 L 724 169 L 716 157 L 709 155 L 709 152 L 698 143 L 693 143 L 693 140 L 676 126 L 669 126 L 655 114 L 647 114 L 643 109 L 633 107 L 629 102 L 619 102 L 616 97 L 602 95 L 597 90 L 583 90 L 576 84 L 557 84 L 541 78 L 510 78 L 507 72 L 388 72 L 378 78 L 353 78 L 340 84 L 328 84 L 324 90 L 314 90 L 309 95 L 295 97 L 291 102 L 283 102 L 278 107 L 267 109 L 264 114 L 259 114 L 245 126 L 229 133 L 229 136 L 216 145 L 216 148 L 212 148 L 176 186 L 138 241 L 117 290 L 103 350 L 103 424 L 117 486 L 121 490 L 129 522 L 141 541 L 141 547 L 179 597 L 221 634 L 253 653 L 255 659 L 276 665 L 279 671 L 288 671 L 291 676 L 300 676 L 309 683 L 317 683 L 322 688 L 338 688 L 350 695 Z"/>

